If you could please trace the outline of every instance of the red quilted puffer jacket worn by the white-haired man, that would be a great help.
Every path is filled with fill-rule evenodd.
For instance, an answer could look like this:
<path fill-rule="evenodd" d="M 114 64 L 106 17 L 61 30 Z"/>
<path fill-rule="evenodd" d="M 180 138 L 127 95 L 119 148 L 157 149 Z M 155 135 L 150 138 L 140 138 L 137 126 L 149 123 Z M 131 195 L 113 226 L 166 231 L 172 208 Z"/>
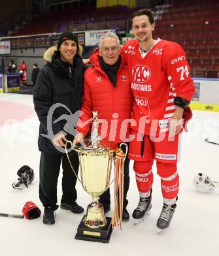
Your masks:
<path fill-rule="evenodd" d="M 85 123 L 92 118 L 92 111 L 97 111 L 98 119 L 103 119 L 103 123 L 99 125 L 101 138 L 116 143 L 126 141 L 129 135 L 133 94 L 125 60 L 122 57 L 116 87 L 101 69 L 98 49 L 90 56 L 90 61 L 93 66 L 84 74 L 84 96 L 81 107 L 84 114 L 80 116 L 77 131 L 86 135 L 90 123 L 86 125 Z"/>

